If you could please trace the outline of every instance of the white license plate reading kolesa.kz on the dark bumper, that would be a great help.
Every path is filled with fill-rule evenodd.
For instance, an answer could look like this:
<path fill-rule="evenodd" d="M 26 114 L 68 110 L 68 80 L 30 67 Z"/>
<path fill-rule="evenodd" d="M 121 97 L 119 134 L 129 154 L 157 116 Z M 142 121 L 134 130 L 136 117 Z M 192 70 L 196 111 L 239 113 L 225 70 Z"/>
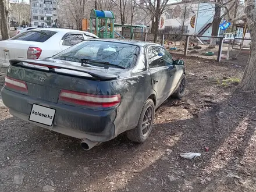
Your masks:
<path fill-rule="evenodd" d="M 33 104 L 29 120 L 42 125 L 52 126 L 54 123 L 56 109 L 48 108 L 46 106 Z"/>

